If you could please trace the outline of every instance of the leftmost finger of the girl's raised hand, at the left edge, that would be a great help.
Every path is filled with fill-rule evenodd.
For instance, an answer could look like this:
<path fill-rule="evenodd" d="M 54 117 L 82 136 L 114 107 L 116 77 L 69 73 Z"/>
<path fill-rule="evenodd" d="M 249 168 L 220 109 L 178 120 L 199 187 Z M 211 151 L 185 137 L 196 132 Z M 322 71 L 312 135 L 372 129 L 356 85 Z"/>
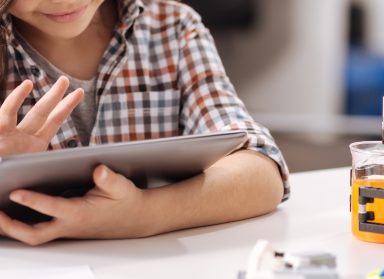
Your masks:
<path fill-rule="evenodd" d="M 30 80 L 25 80 L 4 100 L 0 107 L 0 131 L 2 133 L 15 129 L 17 124 L 17 112 L 25 98 L 31 93 L 32 89 L 32 82 Z"/>

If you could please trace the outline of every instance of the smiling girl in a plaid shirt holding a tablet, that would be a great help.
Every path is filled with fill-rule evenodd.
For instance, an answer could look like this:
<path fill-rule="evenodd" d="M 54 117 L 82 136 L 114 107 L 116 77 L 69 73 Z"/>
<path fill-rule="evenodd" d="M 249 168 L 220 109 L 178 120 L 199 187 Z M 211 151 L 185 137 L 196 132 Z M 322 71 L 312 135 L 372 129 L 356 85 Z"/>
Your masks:
<path fill-rule="evenodd" d="M 254 217 L 288 198 L 288 171 L 279 149 L 236 96 L 209 32 L 190 8 L 166 0 L 0 3 L 6 11 L 1 25 L 8 63 L 8 97 L 0 113 L 2 119 L 12 119 L 1 123 L 23 142 L 22 148 L 9 144 L 13 134 L 0 129 L 1 152 L 228 129 L 249 134 L 241 149 L 203 174 L 165 187 L 142 190 L 101 165 L 94 171 L 95 187 L 84 197 L 14 191 L 12 201 L 53 219 L 29 225 L 0 213 L 3 235 L 30 245 L 56 238 L 145 237 Z M 44 95 L 62 75 L 70 80 L 71 90 L 85 91 L 84 100 L 65 120 L 81 90 L 56 107 L 57 99 L 52 104 L 46 97 L 51 94 Z M 10 94 L 25 79 L 34 84 L 32 94 L 26 96 L 30 82 L 23 94 Z M 42 119 L 52 107 L 60 117 L 52 120 L 56 126 L 46 128 Z M 22 119 L 18 126 L 16 111 Z M 39 129 L 49 132 L 36 133 Z M 37 144 L 48 138 L 48 146 Z"/>

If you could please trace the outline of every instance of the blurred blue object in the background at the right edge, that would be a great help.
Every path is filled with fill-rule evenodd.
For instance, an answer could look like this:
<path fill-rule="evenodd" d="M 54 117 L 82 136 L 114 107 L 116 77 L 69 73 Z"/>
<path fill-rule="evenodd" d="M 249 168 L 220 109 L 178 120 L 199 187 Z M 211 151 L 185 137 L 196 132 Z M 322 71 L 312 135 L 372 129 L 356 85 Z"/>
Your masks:
<path fill-rule="evenodd" d="M 382 114 L 384 57 L 352 47 L 346 61 L 345 79 L 347 114 Z"/>

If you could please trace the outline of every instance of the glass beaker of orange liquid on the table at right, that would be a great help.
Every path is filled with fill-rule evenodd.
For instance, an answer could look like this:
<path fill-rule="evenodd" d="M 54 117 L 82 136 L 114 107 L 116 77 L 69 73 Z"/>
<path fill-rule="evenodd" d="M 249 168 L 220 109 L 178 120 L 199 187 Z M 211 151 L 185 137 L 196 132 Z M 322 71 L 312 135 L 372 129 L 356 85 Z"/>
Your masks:
<path fill-rule="evenodd" d="M 360 240 L 384 243 L 384 144 L 352 143 L 352 233 Z"/>

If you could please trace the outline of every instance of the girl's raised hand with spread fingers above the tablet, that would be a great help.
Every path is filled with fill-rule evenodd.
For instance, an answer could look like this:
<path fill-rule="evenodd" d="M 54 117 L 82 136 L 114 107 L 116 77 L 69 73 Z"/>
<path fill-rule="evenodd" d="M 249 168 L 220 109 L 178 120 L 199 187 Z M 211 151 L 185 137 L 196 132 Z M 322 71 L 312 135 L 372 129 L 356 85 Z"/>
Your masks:
<path fill-rule="evenodd" d="M 84 95 L 82 89 L 77 89 L 63 99 L 68 86 L 68 79 L 60 77 L 19 124 L 17 112 L 33 84 L 26 80 L 12 91 L 0 107 L 0 156 L 48 148 L 52 137 Z"/>

